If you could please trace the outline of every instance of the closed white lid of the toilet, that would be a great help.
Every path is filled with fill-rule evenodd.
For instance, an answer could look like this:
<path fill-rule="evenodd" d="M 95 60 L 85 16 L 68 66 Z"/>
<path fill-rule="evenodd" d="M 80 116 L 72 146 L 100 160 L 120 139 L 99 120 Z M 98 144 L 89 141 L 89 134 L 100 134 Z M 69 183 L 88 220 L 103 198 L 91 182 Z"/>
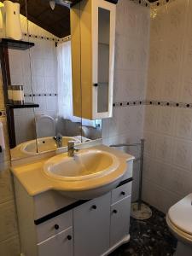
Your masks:
<path fill-rule="evenodd" d="M 192 235 L 192 194 L 172 206 L 169 209 L 168 217 L 178 229 Z"/>

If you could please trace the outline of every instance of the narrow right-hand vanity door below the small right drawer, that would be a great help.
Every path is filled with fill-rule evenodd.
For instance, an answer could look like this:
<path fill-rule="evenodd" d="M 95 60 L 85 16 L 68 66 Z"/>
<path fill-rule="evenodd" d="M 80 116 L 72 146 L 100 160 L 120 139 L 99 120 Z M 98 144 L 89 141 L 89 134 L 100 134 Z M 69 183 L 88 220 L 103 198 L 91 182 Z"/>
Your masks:
<path fill-rule="evenodd" d="M 131 196 L 118 201 L 111 206 L 111 247 L 129 235 L 130 229 Z"/>

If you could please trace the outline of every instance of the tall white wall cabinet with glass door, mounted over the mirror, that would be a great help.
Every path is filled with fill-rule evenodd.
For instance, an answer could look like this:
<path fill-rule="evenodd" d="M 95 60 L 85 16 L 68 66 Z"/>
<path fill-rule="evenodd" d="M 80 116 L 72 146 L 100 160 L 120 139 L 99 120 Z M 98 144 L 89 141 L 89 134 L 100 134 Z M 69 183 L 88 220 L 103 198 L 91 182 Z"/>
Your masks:
<path fill-rule="evenodd" d="M 73 114 L 112 117 L 116 5 L 83 0 L 71 9 Z"/>

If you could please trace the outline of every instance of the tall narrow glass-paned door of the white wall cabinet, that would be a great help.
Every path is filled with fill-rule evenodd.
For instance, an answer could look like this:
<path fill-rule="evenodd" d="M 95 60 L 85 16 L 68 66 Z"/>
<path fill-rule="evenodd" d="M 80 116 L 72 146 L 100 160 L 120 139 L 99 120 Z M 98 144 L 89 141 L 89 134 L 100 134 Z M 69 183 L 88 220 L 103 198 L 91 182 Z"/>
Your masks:
<path fill-rule="evenodd" d="M 116 5 L 92 1 L 93 119 L 112 117 Z"/>

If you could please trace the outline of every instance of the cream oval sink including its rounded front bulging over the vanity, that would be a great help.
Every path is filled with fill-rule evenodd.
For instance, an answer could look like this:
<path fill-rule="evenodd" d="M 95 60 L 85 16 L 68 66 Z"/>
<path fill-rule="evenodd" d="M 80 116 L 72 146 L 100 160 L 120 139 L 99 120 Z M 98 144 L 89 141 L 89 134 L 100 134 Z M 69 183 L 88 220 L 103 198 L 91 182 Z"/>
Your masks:
<path fill-rule="evenodd" d="M 44 164 L 44 175 L 62 195 L 91 199 L 115 188 L 124 172 L 119 159 L 107 151 L 84 149 L 73 157 L 59 154 Z M 120 171 L 120 172 L 119 172 Z"/>

